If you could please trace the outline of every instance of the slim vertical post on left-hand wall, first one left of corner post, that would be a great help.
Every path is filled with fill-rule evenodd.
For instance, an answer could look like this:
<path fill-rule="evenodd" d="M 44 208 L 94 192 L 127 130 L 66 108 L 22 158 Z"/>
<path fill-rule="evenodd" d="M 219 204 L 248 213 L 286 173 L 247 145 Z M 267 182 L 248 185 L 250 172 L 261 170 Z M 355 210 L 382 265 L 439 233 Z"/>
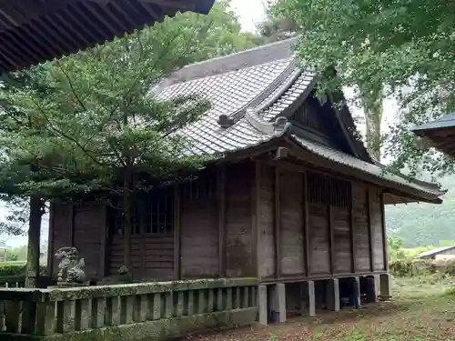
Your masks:
<path fill-rule="evenodd" d="M 219 276 L 226 277 L 226 168 L 217 173 L 218 194 L 218 268 Z"/>

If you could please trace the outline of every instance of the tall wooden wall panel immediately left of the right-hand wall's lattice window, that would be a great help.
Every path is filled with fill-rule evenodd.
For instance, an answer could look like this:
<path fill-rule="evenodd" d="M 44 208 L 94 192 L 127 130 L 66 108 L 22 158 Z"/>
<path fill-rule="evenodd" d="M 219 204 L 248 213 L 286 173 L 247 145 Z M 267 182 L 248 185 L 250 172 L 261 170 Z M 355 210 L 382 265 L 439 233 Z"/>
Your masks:
<path fill-rule="evenodd" d="M 303 176 L 282 170 L 279 176 L 280 269 L 283 276 L 304 273 Z"/>

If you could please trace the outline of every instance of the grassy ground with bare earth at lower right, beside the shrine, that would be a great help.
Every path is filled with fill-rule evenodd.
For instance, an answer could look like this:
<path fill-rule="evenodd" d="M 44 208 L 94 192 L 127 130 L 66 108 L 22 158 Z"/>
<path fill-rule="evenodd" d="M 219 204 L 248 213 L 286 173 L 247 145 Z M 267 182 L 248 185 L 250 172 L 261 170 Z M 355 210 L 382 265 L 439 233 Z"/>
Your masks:
<path fill-rule="evenodd" d="M 298 317 L 275 326 L 237 329 L 194 341 L 449 341 L 455 340 L 455 290 L 440 277 L 395 279 L 393 300 L 361 309 Z"/>

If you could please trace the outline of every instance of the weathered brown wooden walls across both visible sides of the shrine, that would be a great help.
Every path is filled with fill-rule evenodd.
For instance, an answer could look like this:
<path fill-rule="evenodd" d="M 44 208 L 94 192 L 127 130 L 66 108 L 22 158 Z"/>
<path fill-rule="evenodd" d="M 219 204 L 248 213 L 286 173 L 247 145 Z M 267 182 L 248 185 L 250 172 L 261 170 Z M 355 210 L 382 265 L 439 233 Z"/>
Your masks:
<path fill-rule="evenodd" d="M 132 236 L 138 278 L 273 282 L 387 268 L 380 188 L 286 162 L 248 161 L 207 171 L 174 193 L 172 231 L 141 227 Z M 124 239 L 108 232 L 106 216 L 100 204 L 55 206 L 52 252 L 76 246 L 90 276 L 116 274 Z M 56 274 L 56 262 L 53 268 Z"/>

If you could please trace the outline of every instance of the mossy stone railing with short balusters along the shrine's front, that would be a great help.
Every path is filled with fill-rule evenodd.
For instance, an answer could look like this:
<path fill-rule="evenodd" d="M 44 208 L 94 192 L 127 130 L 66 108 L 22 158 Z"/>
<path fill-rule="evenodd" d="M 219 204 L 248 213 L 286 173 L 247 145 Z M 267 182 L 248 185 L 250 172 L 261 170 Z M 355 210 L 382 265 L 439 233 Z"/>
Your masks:
<path fill-rule="evenodd" d="M 1 288 L 0 339 L 150 340 L 253 323 L 255 278 Z"/>

